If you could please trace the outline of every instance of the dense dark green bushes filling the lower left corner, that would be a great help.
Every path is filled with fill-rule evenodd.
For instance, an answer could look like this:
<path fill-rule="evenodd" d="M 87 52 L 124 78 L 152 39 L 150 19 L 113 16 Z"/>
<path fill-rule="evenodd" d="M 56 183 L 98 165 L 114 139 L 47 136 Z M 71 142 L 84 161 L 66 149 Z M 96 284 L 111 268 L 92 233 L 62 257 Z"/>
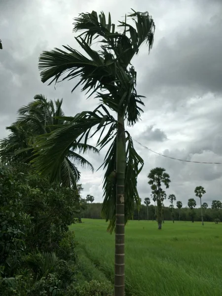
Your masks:
<path fill-rule="evenodd" d="M 79 212 L 77 189 L 50 184 L 28 164 L 0 165 L 1 296 L 78 296 L 81 289 L 87 296 L 100 285 L 110 289 L 78 280 L 69 225 Z"/>

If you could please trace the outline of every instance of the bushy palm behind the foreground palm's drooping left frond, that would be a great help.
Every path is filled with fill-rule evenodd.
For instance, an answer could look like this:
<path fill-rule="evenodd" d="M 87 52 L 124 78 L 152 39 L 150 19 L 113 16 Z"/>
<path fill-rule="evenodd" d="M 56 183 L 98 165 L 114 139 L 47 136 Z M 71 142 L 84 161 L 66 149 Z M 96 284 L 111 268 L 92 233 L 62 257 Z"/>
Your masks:
<path fill-rule="evenodd" d="M 11 131 L 8 137 L 0 141 L 0 157 L 4 161 L 20 161 L 30 163 L 35 157 L 34 147 L 37 145 L 37 137 L 53 133 L 56 129 L 66 125 L 65 120 L 58 119 L 63 116 L 62 100 L 53 103 L 47 101 L 43 95 L 36 95 L 34 101 L 18 110 L 18 119 L 7 127 Z M 46 136 L 47 137 L 47 136 Z M 92 165 L 81 155 L 75 152 L 76 149 L 98 150 L 90 145 L 75 143 L 73 147 L 64 155 L 61 169 L 57 173 L 57 181 L 65 186 L 73 186 L 79 181 L 80 172 L 74 163 L 82 166 L 87 165 L 93 170 Z M 71 161 L 74 160 L 74 163 Z M 52 180 L 54 181 L 54 180 Z"/>

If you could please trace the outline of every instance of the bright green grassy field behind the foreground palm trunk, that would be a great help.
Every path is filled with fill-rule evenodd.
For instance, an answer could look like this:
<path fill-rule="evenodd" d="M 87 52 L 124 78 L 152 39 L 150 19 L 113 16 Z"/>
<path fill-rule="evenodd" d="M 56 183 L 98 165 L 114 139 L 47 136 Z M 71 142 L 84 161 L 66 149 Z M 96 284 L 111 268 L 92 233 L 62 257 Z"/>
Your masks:
<path fill-rule="evenodd" d="M 103 220 L 82 221 L 72 225 L 80 259 L 112 281 L 114 234 Z M 130 221 L 125 230 L 128 295 L 222 296 L 222 224 L 167 221 L 158 231 L 156 222 Z"/>

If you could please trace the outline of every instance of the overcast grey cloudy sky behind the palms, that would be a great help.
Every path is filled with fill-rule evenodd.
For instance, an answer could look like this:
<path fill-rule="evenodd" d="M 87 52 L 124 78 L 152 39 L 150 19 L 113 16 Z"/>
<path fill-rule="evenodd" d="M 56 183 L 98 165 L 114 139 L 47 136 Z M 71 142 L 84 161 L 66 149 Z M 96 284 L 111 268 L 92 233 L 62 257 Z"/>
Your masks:
<path fill-rule="evenodd" d="M 74 40 L 73 18 L 92 10 L 111 12 L 117 23 L 130 8 L 148 11 L 155 25 L 153 48 L 144 45 L 133 60 L 137 90 L 145 95 L 141 121 L 128 128 L 134 139 L 171 157 L 222 162 L 222 1 L 221 0 L 0 0 L 0 138 L 16 119 L 21 105 L 42 93 L 64 99 L 66 115 L 93 110 L 98 101 L 86 100 L 74 82 L 47 86 L 40 81 L 38 56 L 62 45 L 79 49 Z M 222 200 L 222 165 L 195 164 L 167 159 L 135 142 L 145 165 L 138 178 L 142 200 L 150 196 L 148 172 L 161 166 L 171 177 L 168 194 L 187 205 L 195 186 L 207 193 L 203 201 Z M 100 156 L 86 155 L 94 168 Z M 103 171 L 81 170 L 82 193 L 102 202 Z M 196 199 L 197 200 L 197 199 Z M 199 200 L 197 200 L 199 204 Z M 169 204 L 166 201 L 166 204 Z"/>

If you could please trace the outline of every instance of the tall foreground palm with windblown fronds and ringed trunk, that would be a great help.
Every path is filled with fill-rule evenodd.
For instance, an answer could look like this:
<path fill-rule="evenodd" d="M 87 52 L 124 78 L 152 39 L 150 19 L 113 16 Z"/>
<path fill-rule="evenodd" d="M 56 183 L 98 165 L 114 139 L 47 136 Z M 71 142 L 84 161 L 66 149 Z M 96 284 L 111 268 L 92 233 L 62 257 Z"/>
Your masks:
<path fill-rule="evenodd" d="M 59 165 L 59 159 L 77 139 L 80 141 L 84 137 L 87 143 L 91 128 L 97 126 L 93 135 L 102 129 L 98 146 L 111 145 L 104 161 L 107 171 L 102 215 L 110 221 L 108 230 L 112 232 L 115 228 L 115 296 L 124 295 L 124 225 L 130 219 L 135 203 L 140 203 L 136 185 L 143 166 L 143 159 L 135 151 L 125 130 L 125 119 L 128 125 L 134 125 L 144 105 L 136 92 L 136 72 L 131 61 L 144 41 L 151 48 L 155 28 L 148 12 L 133 11 L 127 17 L 134 21 L 136 28 L 128 24 L 125 17 L 125 21 L 119 24 L 123 28 L 122 33 L 118 33 L 111 23 L 110 14 L 107 22 L 103 12 L 99 17 L 95 11 L 81 13 L 75 18 L 74 32 L 83 30 L 75 39 L 87 57 L 70 46 L 64 46 L 66 51 L 58 48 L 44 51 L 39 58 L 42 82 L 51 79 L 49 84 L 57 83 L 63 74 L 65 76 L 61 80 L 78 76 L 80 80 L 73 91 L 81 84 L 82 91 L 91 91 L 89 96 L 96 92 L 100 101 L 96 110 L 67 118 L 72 124 L 51 135 L 45 143 L 38 143 L 38 151 L 41 150 L 36 167 L 43 174 L 52 174 Z M 91 48 L 93 39 L 100 42 L 98 52 Z M 108 109 L 117 114 L 117 120 Z M 102 137 L 105 127 L 109 130 Z M 52 157 L 57 161 L 52 162 Z"/>

